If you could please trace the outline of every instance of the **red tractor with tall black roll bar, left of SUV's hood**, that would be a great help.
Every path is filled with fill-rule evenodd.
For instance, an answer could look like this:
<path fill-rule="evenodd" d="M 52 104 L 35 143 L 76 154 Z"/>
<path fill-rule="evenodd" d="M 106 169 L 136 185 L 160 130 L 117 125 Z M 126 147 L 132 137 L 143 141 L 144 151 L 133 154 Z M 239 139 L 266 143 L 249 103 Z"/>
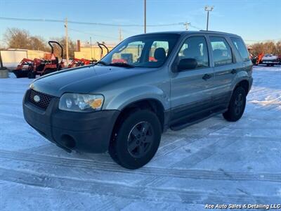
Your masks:
<path fill-rule="evenodd" d="M 55 56 L 53 53 L 53 45 L 57 44 L 60 47 L 61 51 L 61 60 L 60 63 L 58 62 L 58 57 Z M 51 46 L 51 60 L 41 60 L 41 63 L 39 65 L 34 66 L 32 71 L 28 72 L 27 77 L 28 78 L 35 78 L 36 75 L 47 75 L 48 73 L 55 72 L 58 70 L 61 70 L 65 67 L 63 63 L 63 46 L 61 46 L 57 41 L 48 41 L 48 45 Z"/>

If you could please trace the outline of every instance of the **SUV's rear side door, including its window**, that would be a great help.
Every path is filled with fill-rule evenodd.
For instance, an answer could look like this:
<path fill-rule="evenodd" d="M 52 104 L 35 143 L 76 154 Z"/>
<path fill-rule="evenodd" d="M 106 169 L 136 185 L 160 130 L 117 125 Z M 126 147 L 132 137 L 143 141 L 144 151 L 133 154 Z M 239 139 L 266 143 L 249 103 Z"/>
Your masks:
<path fill-rule="evenodd" d="M 241 67 L 236 63 L 233 50 L 225 37 L 209 36 L 211 53 L 214 62 L 215 79 L 212 106 L 224 108 L 228 106 L 232 92 L 232 82 L 237 70 Z"/>

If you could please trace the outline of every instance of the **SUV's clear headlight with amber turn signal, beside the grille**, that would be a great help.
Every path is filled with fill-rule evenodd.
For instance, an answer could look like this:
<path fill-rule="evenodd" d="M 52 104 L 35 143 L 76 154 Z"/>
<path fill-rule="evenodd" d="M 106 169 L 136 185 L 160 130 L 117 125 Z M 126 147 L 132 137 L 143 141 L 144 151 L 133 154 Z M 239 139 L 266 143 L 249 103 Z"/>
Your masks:
<path fill-rule="evenodd" d="M 58 108 L 76 112 L 93 112 L 103 106 L 101 94 L 74 94 L 66 93 L 60 97 Z"/>

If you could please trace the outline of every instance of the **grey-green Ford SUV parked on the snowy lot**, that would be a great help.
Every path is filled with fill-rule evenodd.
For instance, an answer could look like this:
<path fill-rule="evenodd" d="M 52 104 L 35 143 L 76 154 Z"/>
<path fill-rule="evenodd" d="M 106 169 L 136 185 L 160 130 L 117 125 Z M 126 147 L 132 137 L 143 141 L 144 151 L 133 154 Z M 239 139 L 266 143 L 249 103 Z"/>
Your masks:
<path fill-rule="evenodd" d="M 136 169 L 153 158 L 166 129 L 221 113 L 230 122 L 239 120 L 251 73 L 249 53 L 235 34 L 141 34 L 95 65 L 34 80 L 23 113 L 39 134 L 66 151 L 108 151 L 119 165 Z"/>

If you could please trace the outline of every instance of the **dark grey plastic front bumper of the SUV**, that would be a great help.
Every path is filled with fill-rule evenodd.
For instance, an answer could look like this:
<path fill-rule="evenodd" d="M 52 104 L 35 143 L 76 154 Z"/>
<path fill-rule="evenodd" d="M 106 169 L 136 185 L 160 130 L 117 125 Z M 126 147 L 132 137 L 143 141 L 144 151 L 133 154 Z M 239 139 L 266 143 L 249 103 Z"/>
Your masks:
<path fill-rule="evenodd" d="M 25 120 L 49 141 L 67 151 L 103 153 L 107 151 L 112 129 L 119 110 L 103 110 L 93 113 L 76 113 L 58 109 L 59 98 L 53 97 L 46 110 L 34 106 L 23 98 Z"/>

